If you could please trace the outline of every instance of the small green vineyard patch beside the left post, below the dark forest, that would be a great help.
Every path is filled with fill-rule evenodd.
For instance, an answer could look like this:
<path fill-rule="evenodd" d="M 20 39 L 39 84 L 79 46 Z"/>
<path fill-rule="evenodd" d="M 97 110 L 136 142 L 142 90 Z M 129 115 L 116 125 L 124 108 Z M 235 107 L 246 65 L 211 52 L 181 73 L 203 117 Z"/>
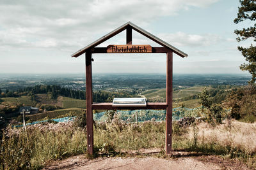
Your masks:
<path fill-rule="evenodd" d="M 86 101 L 63 97 L 62 108 L 86 108 Z"/>

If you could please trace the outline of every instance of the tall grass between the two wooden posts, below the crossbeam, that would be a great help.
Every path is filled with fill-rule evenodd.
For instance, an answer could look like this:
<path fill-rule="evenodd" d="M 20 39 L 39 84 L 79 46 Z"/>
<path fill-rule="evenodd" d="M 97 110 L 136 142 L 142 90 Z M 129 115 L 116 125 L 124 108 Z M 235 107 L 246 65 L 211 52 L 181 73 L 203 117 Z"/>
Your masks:
<path fill-rule="evenodd" d="M 115 146 L 116 150 L 129 151 L 140 148 L 164 147 L 164 122 L 143 122 L 127 124 L 114 118 L 111 124 L 104 122 L 95 129 L 95 145 L 104 143 Z"/>

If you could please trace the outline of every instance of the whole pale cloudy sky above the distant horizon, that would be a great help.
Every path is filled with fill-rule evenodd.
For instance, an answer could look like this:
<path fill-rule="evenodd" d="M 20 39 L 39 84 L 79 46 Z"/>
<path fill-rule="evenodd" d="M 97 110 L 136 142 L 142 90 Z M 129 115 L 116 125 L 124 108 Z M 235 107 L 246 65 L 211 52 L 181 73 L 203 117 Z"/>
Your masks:
<path fill-rule="evenodd" d="M 132 22 L 175 46 L 173 73 L 246 73 L 234 24 L 239 0 L 0 0 L 0 73 L 85 73 L 84 55 L 71 57 Z M 99 46 L 124 45 L 125 31 Z M 136 31 L 132 44 L 159 46 Z M 93 73 L 165 73 L 166 54 L 93 54 Z"/>

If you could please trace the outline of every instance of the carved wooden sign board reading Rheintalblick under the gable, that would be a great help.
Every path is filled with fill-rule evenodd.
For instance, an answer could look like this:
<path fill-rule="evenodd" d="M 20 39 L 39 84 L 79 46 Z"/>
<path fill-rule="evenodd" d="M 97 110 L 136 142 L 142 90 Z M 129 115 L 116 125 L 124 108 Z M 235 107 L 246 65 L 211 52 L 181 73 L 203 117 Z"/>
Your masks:
<path fill-rule="evenodd" d="M 107 53 L 152 53 L 150 45 L 109 45 Z"/>

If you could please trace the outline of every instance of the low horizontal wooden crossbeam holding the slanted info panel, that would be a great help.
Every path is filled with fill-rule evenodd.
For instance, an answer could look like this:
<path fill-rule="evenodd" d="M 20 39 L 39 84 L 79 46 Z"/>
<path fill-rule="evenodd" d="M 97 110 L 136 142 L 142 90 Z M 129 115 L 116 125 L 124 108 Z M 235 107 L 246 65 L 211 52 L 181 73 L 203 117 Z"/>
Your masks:
<path fill-rule="evenodd" d="M 166 103 L 147 103 L 147 106 L 112 106 L 112 103 L 93 103 L 93 110 L 166 110 Z"/>

